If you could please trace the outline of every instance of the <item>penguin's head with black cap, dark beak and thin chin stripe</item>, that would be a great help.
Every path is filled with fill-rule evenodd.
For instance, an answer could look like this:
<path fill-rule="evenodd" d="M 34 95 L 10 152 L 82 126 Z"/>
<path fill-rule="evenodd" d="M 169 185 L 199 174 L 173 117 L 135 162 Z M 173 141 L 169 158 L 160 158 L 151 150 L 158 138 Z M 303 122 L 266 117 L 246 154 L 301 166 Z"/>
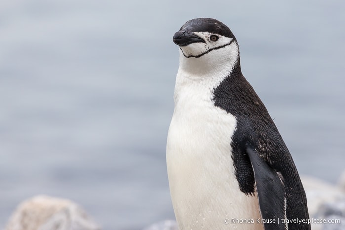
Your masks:
<path fill-rule="evenodd" d="M 212 18 L 196 18 L 187 21 L 174 34 L 173 41 L 180 46 L 185 58 L 205 58 L 233 61 L 239 58 L 235 36 L 222 22 Z"/>

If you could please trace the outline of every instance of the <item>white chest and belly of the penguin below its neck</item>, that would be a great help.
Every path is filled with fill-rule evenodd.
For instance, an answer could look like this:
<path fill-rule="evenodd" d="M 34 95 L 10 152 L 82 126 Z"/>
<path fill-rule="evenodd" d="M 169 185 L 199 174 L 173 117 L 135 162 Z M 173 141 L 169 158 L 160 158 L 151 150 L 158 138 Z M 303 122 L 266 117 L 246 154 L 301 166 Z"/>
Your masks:
<path fill-rule="evenodd" d="M 236 118 L 212 101 L 200 82 L 175 88 L 167 139 L 170 193 L 180 230 L 263 229 L 235 223 L 260 218 L 256 193 L 240 191 L 231 158 Z"/>

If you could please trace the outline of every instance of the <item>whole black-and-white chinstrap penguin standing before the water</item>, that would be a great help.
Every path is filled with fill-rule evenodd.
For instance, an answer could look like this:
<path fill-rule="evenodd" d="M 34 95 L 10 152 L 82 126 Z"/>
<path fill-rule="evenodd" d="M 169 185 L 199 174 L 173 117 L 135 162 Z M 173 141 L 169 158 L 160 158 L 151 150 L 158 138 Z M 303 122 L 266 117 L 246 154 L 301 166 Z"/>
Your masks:
<path fill-rule="evenodd" d="M 192 19 L 173 41 L 180 65 L 166 157 L 179 229 L 309 230 L 296 166 L 242 75 L 230 29 Z"/>

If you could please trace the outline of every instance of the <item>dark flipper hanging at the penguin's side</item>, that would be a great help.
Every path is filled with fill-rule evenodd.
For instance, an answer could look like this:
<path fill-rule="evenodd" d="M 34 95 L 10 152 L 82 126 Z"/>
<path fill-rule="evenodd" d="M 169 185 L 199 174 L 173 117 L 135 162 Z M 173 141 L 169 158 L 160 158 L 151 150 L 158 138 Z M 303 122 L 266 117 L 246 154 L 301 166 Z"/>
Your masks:
<path fill-rule="evenodd" d="M 284 182 L 258 153 L 247 147 L 247 154 L 254 171 L 255 187 L 259 201 L 259 209 L 265 230 L 286 230 L 286 192 Z M 275 221 L 274 221 L 275 220 Z M 274 222 L 273 222 L 274 221 Z"/>

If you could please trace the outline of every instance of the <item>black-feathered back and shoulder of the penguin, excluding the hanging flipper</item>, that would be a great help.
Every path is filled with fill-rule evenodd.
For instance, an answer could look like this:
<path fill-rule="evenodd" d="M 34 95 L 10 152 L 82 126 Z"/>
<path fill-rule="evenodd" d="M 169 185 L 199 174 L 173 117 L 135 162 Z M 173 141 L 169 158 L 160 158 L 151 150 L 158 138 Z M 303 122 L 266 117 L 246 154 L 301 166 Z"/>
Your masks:
<path fill-rule="evenodd" d="M 282 176 L 286 192 L 286 219 L 304 219 L 307 222 L 289 222 L 288 229 L 311 229 L 307 199 L 296 166 L 265 105 L 243 77 L 239 58 L 231 74 L 214 89 L 213 100 L 215 106 L 237 118 L 231 157 L 241 191 L 248 195 L 255 191 L 254 172 L 246 151 L 249 145 Z"/>

